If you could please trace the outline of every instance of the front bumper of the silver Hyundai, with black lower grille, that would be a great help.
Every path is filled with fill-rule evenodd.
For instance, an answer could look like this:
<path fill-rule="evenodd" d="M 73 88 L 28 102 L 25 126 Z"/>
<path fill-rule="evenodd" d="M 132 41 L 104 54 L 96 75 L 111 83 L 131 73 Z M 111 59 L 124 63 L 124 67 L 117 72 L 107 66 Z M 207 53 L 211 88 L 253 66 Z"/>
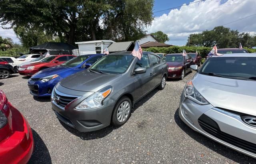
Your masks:
<path fill-rule="evenodd" d="M 182 93 L 179 116 L 193 130 L 238 152 L 256 158 L 256 128 L 252 128 L 238 115 L 212 105 L 198 105 Z"/>

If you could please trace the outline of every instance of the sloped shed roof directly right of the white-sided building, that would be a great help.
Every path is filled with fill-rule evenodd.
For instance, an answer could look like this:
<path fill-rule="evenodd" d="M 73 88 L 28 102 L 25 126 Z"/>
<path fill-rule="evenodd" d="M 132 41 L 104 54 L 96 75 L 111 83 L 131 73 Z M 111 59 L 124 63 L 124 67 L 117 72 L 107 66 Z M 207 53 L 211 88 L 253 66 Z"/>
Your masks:
<path fill-rule="evenodd" d="M 129 51 L 129 49 L 134 48 L 133 41 L 115 42 L 108 46 L 108 51 L 118 52 L 118 51 Z"/>

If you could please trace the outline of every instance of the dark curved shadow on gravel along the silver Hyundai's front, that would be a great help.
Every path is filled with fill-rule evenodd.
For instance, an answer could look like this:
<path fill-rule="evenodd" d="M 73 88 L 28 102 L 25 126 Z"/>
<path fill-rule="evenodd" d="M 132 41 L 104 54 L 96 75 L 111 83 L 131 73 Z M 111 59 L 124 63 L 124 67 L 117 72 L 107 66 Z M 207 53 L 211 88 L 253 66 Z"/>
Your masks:
<path fill-rule="evenodd" d="M 190 127 L 188 127 L 179 117 L 179 111 L 176 110 L 174 114 L 174 120 L 176 124 L 184 131 L 186 134 L 188 134 L 191 138 L 199 142 L 200 144 L 206 146 L 207 148 L 213 150 L 214 152 L 217 152 L 218 154 L 233 160 L 238 163 L 255 163 L 255 159 L 251 158 L 250 156 L 246 156 L 240 152 L 237 152 L 231 148 L 228 148 L 222 144 L 219 144 L 218 142 L 215 142 L 214 140 L 211 140 L 210 138 L 207 138 L 203 134 L 200 134 L 199 132 L 196 132 L 192 130 Z"/>

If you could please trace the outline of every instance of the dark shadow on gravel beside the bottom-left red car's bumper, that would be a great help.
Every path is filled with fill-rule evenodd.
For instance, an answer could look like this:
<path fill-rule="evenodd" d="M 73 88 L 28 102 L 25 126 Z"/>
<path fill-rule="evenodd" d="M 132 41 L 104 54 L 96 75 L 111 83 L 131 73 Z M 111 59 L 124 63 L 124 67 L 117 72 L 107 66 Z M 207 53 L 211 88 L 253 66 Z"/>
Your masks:
<path fill-rule="evenodd" d="M 52 159 L 44 141 L 34 129 L 31 128 L 31 130 L 34 138 L 34 151 L 28 164 L 51 164 Z"/>

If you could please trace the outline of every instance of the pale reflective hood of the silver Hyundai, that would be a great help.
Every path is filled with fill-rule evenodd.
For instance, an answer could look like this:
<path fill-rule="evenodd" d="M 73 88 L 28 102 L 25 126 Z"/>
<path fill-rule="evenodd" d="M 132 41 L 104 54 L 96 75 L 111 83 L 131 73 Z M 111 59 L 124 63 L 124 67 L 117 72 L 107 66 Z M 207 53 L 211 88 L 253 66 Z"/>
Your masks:
<path fill-rule="evenodd" d="M 214 107 L 256 116 L 256 81 L 196 73 L 192 83 Z"/>

